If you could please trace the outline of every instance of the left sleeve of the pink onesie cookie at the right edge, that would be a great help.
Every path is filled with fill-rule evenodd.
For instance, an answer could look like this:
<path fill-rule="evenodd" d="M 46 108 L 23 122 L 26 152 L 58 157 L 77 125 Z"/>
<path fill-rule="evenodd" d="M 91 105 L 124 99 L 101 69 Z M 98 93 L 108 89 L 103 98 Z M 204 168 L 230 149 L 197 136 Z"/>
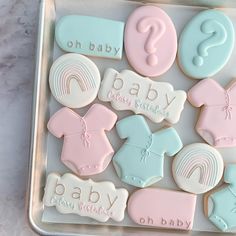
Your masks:
<path fill-rule="evenodd" d="M 212 79 L 203 79 L 198 82 L 188 91 L 188 101 L 195 107 L 204 105 L 209 98 L 209 93 L 214 92 L 211 90 L 213 83 Z"/>

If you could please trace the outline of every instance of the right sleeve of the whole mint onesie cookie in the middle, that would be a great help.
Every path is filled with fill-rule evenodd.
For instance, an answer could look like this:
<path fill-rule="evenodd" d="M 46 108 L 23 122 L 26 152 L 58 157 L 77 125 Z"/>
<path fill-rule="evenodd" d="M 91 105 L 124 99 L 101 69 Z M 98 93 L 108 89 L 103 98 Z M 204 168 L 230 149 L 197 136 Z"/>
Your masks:
<path fill-rule="evenodd" d="M 165 153 L 174 156 L 183 147 L 183 143 L 174 128 L 167 128 L 163 131 L 162 142 L 165 143 Z"/>

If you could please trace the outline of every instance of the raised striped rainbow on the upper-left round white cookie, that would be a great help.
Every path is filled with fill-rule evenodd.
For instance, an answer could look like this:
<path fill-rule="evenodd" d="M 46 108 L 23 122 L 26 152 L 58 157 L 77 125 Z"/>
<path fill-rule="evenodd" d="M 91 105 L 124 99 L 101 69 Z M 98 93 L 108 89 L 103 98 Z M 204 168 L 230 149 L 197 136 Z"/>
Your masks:
<path fill-rule="evenodd" d="M 83 92 L 96 88 L 93 74 L 85 64 L 78 60 L 69 60 L 61 63 L 55 69 L 53 77 L 55 94 L 58 97 L 70 94 L 72 80 L 77 81 Z"/>

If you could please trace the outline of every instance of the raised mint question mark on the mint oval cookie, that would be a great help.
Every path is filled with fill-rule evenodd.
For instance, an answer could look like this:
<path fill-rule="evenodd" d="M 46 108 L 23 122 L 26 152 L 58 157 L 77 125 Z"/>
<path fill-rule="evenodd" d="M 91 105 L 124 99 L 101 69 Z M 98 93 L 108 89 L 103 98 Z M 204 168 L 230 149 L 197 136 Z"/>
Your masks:
<path fill-rule="evenodd" d="M 211 36 L 198 45 L 198 55 L 193 58 L 193 64 L 195 66 L 202 66 L 204 64 L 204 57 L 208 56 L 208 50 L 212 47 L 224 44 L 227 39 L 225 27 L 216 20 L 205 20 L 201 24 L 201 31 Z"/>

